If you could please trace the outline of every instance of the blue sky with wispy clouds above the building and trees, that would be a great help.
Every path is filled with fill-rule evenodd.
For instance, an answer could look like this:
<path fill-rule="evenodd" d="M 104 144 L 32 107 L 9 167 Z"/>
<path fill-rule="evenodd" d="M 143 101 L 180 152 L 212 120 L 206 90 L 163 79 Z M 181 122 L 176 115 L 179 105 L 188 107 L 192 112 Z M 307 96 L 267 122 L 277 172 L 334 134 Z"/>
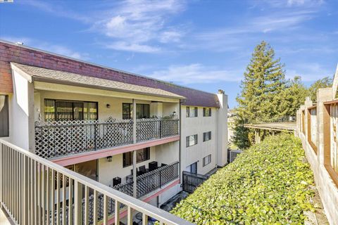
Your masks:
<path fill-rule="evenodd" d="M 338 1 L 30 1 L 0 4 L 0 39 L 209 92 L 236 105 L 268 41 L 306 84 L 338 63 Z"/>

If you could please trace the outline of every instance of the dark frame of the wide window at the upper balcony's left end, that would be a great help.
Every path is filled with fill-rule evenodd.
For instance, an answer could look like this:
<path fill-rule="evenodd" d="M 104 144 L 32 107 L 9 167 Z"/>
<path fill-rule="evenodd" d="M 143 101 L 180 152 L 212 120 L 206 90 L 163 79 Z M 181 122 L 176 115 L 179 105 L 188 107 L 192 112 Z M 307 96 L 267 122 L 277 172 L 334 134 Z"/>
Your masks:
<path fill-rule="evenodd" d="M 46 101 L 54 101 L 54 120 L 53 119 L 46 119 Z M 99 102 L 97 101 L 78 101 L 78 100 L 64 100 L 64 99 L 53 99 L 53 98 L 44 98 L 44 120 L 52 120 L 52 121 L 58 121 L 58 110 L 56 108 L 56 103 L 57 102 L 67 102 L 67 103 L 72 103 L 72 119 L 74 120 L 74 103 L 82 103 L 82 120 L 84 120 L 84 104 L 85 103 L 94 103 L 96 105 L 96 119 L 99 120 Z"/>

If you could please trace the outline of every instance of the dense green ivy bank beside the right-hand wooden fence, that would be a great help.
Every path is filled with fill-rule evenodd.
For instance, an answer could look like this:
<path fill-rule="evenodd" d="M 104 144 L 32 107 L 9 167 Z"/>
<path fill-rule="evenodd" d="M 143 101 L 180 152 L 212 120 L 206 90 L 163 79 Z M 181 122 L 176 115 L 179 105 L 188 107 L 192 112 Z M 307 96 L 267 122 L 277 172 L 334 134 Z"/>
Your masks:
<path fill-rule="evenodd" d="M 313 210 L 313 174 L 301 142 L 270 136 L 182 200 L 172 211 L 194 224 L 303 224 Z"/>

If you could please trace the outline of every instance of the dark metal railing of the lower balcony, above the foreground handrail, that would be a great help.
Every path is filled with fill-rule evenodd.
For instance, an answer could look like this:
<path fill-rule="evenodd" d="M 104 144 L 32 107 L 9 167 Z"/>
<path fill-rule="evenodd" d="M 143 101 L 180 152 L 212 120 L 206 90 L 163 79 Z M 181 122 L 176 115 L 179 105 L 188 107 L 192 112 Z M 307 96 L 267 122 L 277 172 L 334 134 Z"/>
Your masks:
<path fill-rule="evenodd" d="M 179 162 L 173 162 L 170 165 L 165 165 L 141 176 L 137 176 L 137 198 L 142 198 L 144 195 L 156 191 L 158 188 L 178 179 L 180 175 L 179 165 Z M 132 196 L 132 184 L 133 181 L 127 181 L 124 184 L 118 184 L 114 188 Z"/>

